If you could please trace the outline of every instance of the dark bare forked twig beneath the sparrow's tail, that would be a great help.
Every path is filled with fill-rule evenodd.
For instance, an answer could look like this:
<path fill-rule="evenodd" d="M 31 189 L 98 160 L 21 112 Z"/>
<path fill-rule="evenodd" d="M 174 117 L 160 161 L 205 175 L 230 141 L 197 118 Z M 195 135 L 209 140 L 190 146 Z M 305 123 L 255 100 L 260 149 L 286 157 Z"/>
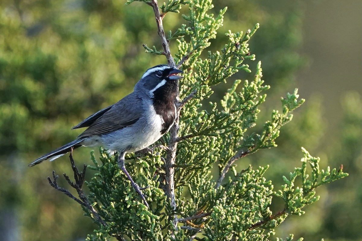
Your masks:
<path fill-rule="evenodd" d="M 70 158 L 70 163 L 71 163 L 71 166 L 72 166 L 72 169 L 73 169 L 73 173 L 74 173 L 74 180 L 75 180 L 75 183 L 72 182 L 70 180 L 70 178 L 64 173 L 64 178 L 66 178 L 67 182 L 69 185 L 72 186 L 72 188 L 76 189 L 77 193 L 78 193 L 78 196 L 79 196 L 79 199 L 74 197 L 70 191 L 64 189 L 64 188 L 61 188 L 58 186 L 58 183 L 56 181 L 56 179 L 58 178 L 58 176 L 55 176 L 55 171 L 53 171 L 53 180 L 51 180 L 50 177 L 48 177 L 48 181 L 49 181 L 49 184 L 55 188 L 56 190 L 59 190 L 61 191 L 62 193 L 66 194 L 68 197 L 72 198 L 73 200 L 75 200 L 76 202 L 78 202 L 80 205 L 84 206 L 85 208 L 87 208 L 90 213 L 92 214 L 92 216 L 94 217 L 94 219 L 98 222 L 98 224 L 100 225 L 104 225 L 104 226 L 107 226 L 107 223 L 101 218 L 101 216 L 97 213 L 97 211 L 93 208 L 93 206 L 90 204 L 87 196 L 84 194 L 84 191 L 82 189 L 82 185 L 83 185 L 83 182 L 84 182 L 84 176 L 85 176 L 85 170 L 86 170 L 86 165 L 84 165 L 83 167 L 83 172 L 79 172 L 78 171 L 78 168 L 76 167 L 76 165 L 74 164 L 74 160 L 73 160 L 73 156 L 72 156 L 72 152 L 73 152 L 73 149 L 71 149 L 70 151 L 70 155 L 69 155 L 69 158 Z M 118 239 L 118 238 L 117 238 Z"/>

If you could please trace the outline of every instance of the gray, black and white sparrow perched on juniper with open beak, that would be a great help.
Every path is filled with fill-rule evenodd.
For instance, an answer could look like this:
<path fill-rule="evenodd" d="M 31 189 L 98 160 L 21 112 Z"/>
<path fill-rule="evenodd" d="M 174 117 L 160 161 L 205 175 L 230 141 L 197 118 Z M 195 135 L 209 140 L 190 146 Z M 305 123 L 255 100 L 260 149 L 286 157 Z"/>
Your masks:
<path fill-rule="evenodd" d="M 88 127 L 74 141 L 38 158 L 29 167 L 50 161 L 80 146 L 103 146 L 119 153 L 118 166 L 131 181 L 148 207 L 139 186 L 125 167 L 126 152 L 142 150 L 155 143 L 172 126 L 176 118 L 175 99 L 178 93 L 177 74 L 183 73 L 170 65 L 148 69 L 134 91 L 117 103 L 101 109 L 72 129 Z"/>

